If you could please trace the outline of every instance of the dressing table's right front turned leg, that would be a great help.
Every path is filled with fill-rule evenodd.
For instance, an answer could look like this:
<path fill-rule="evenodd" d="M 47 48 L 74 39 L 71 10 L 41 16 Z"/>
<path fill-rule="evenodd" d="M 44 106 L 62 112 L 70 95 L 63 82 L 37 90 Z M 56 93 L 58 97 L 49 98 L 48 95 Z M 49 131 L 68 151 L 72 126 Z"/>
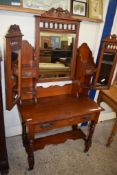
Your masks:
<path fill-rule="evenodd" d="M 91 121 L 90 128 L 89 128 L 89 134 L 88 134 L 88 137 L 85 141 L 85 150 L 84 150 L 84 152 L 87 152 L 89 150 L 89 148 L 91 147 L 92 136 L 93 136 L 93 133 L 94 133 L 94 130 L 95 130 L 96 123 L 97 123 L 96 121 Z"/>

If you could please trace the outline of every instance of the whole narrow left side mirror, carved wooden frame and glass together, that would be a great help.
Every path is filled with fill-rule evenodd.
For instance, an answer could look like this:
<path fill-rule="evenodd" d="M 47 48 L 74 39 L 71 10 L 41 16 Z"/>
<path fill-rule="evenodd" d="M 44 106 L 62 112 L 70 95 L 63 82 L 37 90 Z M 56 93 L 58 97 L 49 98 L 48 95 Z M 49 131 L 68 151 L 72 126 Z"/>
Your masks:
<path fill-rule="evenodd" d="M 19 26 L 12 25 L 6 35 L 6 108 L 8 110 L 19 100 L 20 52 L 22 34 Z"/>

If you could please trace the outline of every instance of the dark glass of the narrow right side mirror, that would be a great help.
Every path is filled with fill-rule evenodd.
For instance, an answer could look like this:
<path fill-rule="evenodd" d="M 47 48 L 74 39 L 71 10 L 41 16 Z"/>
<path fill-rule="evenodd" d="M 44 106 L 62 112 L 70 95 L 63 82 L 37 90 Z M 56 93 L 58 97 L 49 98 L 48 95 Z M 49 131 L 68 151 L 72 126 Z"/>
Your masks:
<path fill-rule="evenodd" d="M 103 54 L 99 77 L 97 80 L 97 87 L 108 86 L 109 79 L 111 76 L 111 71 L 113 68 L 114 58 L 115 58 L 115 53 L 105 52 Z"/>

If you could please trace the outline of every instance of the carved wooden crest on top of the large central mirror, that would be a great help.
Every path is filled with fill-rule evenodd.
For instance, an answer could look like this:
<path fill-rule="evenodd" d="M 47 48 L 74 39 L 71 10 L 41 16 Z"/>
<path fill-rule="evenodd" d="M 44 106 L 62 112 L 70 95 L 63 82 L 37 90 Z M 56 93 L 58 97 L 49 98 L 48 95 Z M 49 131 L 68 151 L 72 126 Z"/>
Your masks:
<path fill-rule="evenodd" d="M 71 13 L 68 10 L 63 10 L 62 8 L 51 8 L 49 11 L 46 11 L 42 14 L 43 17 L 52 17 L 52 18 L 72 18 Z"/>

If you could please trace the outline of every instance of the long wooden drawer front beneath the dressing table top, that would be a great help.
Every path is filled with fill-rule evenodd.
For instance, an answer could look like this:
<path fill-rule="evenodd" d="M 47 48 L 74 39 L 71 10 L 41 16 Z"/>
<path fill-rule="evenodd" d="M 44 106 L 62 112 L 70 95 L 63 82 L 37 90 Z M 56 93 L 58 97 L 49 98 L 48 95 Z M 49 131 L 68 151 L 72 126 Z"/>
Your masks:
<path fill-rule="evenodd" d="M 65 126 L 71 126 L 78 123 L 84 123 L 90 120 L 97 120 L 94 114 L 85 115 L 85 116 L 78 116 L 78 117 L 71 117 L 64 120 L 58 120 L 58 121 L 51 121 L 51 122 L 45 122 L 41 124 L 35 124 L 35 132 L 40 131 L 48 131 L 56 128 L 61 128 Z"/>

